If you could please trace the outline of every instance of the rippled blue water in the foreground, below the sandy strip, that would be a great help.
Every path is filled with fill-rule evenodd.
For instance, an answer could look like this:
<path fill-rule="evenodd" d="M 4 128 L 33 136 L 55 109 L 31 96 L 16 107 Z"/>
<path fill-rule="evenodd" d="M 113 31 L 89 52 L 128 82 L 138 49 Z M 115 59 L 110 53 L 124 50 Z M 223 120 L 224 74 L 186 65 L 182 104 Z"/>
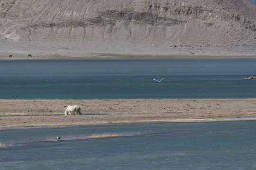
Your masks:
<path fill-rule="evenodd" d="M 137 132 L 149 133 L 43 142 Z M 255 121 L 1 130 L 0 142 L 14 147 L 0 148 L 0 169 L 255 170 L 255 134 Z"/>

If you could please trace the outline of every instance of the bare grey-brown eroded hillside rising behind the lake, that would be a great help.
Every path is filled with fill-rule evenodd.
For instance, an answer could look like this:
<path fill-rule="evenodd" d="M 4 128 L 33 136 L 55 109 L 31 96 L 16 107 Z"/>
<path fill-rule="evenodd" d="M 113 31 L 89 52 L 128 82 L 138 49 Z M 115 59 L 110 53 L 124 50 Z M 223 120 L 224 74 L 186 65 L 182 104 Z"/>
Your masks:
<path fill-rule="evenodd" d="M 2 48 L 38 55 L 253 51 L 255 22 L 251 0 L 0 1 Z"/>

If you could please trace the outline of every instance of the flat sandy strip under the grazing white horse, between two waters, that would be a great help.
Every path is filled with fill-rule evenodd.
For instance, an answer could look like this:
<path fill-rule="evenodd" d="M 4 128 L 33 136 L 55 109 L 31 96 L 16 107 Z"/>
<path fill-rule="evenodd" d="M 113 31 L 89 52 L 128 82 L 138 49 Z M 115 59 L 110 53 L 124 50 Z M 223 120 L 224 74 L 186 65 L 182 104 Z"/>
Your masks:
<path fill-rule="evenodd" d="M 0 100 L 0 128 L 256 120 L 256 99 Z M 79 105 L 82 116 L 64 116 Z"/>

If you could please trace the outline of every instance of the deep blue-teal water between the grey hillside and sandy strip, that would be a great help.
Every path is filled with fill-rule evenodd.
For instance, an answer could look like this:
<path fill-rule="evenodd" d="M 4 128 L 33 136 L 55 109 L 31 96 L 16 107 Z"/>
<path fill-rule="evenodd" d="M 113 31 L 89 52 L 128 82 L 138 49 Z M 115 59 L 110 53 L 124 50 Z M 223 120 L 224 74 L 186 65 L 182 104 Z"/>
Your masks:
<path fill-rule="evenodd" d="M 1 99 L 255 98 L 256 59 L 0 60 Z M 160 80 L 157 83 L 153 78 Z"/>

